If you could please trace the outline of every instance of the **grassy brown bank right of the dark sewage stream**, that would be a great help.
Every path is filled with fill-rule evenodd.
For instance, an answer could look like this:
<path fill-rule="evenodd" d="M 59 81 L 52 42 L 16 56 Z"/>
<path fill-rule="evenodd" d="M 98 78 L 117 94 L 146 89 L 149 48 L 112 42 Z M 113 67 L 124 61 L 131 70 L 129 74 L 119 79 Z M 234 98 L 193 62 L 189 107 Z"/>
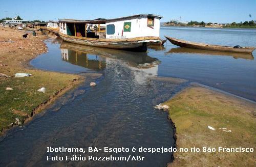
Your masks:
<path fill-rule="evenodd" d="M 168 166 L 255 165 L 255 103 L 202 87 L 190 87 L 164 104 L 169 106 L 169 118 L 176 127 L 178 149 L 174 162 Z M 200 151 L 191 152 L 190 148 L 194 147 Z M 216 148 L 216 152 L 203 152 L 203 147 Z M 240 149 L 227 152 L 219 150 L 220 147 L 253 148 L 254 152 L 240 152 Z M 188 148 L 188 152 L 180 152 L 180 148 Z"/>

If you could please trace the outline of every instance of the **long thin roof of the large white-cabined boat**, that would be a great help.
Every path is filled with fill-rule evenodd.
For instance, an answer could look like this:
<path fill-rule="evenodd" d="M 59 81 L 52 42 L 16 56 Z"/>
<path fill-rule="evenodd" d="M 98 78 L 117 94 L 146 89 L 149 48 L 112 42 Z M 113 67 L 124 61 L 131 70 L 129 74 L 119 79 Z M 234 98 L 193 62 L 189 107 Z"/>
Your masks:
<path fill-rule="evenodd" d="M 58 20 L 59 22 L 69 22 L 69 23 L 105 23 L 106 21 L 122 20 L 126 18 L 141 17 L 141 16 L 159 17 L 160 19 L 163 18 L 163 16 L 155 15 L 155 14 L 137 14 L 137 15 L 119 17 L 119 18 L 113 18 L 113 19 L 97 18 L 94 20 L 76 20 L 76 19 L 58 19 Z"/>

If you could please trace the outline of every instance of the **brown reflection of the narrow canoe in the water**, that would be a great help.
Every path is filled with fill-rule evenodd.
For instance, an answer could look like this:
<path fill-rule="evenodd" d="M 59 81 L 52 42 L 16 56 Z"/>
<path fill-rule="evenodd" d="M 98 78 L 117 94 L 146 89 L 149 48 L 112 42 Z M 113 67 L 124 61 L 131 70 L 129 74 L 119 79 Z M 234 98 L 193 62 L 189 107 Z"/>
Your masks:
<path fill-rule="evenodd" d="M 167 51 L 165 54 L 172 54 L 172 53 L 229 55 L 229 56 L 232 56 L 234 59 L 238 59 L 238 58 L 249 59 L 249 60 L 254 59 L 253 55 L 251 53 L 234 53 L 234 52 L 224 52 L 224 51 L 210 51 L 210 50 L 201 50 L 201 49 L 191 49 L 191 48 L 185 48 L 185 47 L 172 48 L 169 51 Z"/>

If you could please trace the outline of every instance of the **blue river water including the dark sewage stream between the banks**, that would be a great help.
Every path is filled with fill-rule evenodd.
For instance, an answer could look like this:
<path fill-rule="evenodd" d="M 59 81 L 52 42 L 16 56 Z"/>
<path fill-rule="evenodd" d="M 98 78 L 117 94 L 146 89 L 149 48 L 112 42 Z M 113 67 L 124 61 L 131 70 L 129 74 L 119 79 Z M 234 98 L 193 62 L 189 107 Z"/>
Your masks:
<path fill-rule="evenodd" d="M 255 46 L 255 30 L 161 27 L 163 35 L 222 45 Z M 100 73 L 58 99 L 0 142 L 0 165 L 165 166 L 172 153 L 49 153 L 47 147 L 170 148 L 174 129 L 167 114 L 153 108 L 189 82 L 256 101 L 253 55 L 178 48 L 167 42 L 146 53 L 80 46 L 51 39 L 35 68 L 67 73 Z M 61 43 L 61 44 L 60 44 Z M 255 51 L 253 52 L 255 54 Z M 181 79 L 179 79 L 181 78 Z M 47 161 L 47 155 L 142 155 L 143 161 Z"/>

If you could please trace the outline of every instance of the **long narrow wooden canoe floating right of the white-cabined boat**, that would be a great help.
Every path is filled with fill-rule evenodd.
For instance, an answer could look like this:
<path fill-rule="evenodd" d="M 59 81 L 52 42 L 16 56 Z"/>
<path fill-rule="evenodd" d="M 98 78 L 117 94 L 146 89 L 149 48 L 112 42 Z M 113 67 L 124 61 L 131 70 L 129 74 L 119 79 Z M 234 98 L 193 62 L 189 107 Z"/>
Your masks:
<path fill-rule="evenodd" d="M 177 45 L 180 47 L 194 48 L 194 49 L 238 52 L 238 53 L 251 53 L 254 50 L 254 47 L 234 48 L 231 46 L 210 45 L 210 44 L 204 44 L 204 43 L 189 42 L 189 41 L 166 37 L 166 36 L 165 36 L 165 38 L 174 45 Z"/>

